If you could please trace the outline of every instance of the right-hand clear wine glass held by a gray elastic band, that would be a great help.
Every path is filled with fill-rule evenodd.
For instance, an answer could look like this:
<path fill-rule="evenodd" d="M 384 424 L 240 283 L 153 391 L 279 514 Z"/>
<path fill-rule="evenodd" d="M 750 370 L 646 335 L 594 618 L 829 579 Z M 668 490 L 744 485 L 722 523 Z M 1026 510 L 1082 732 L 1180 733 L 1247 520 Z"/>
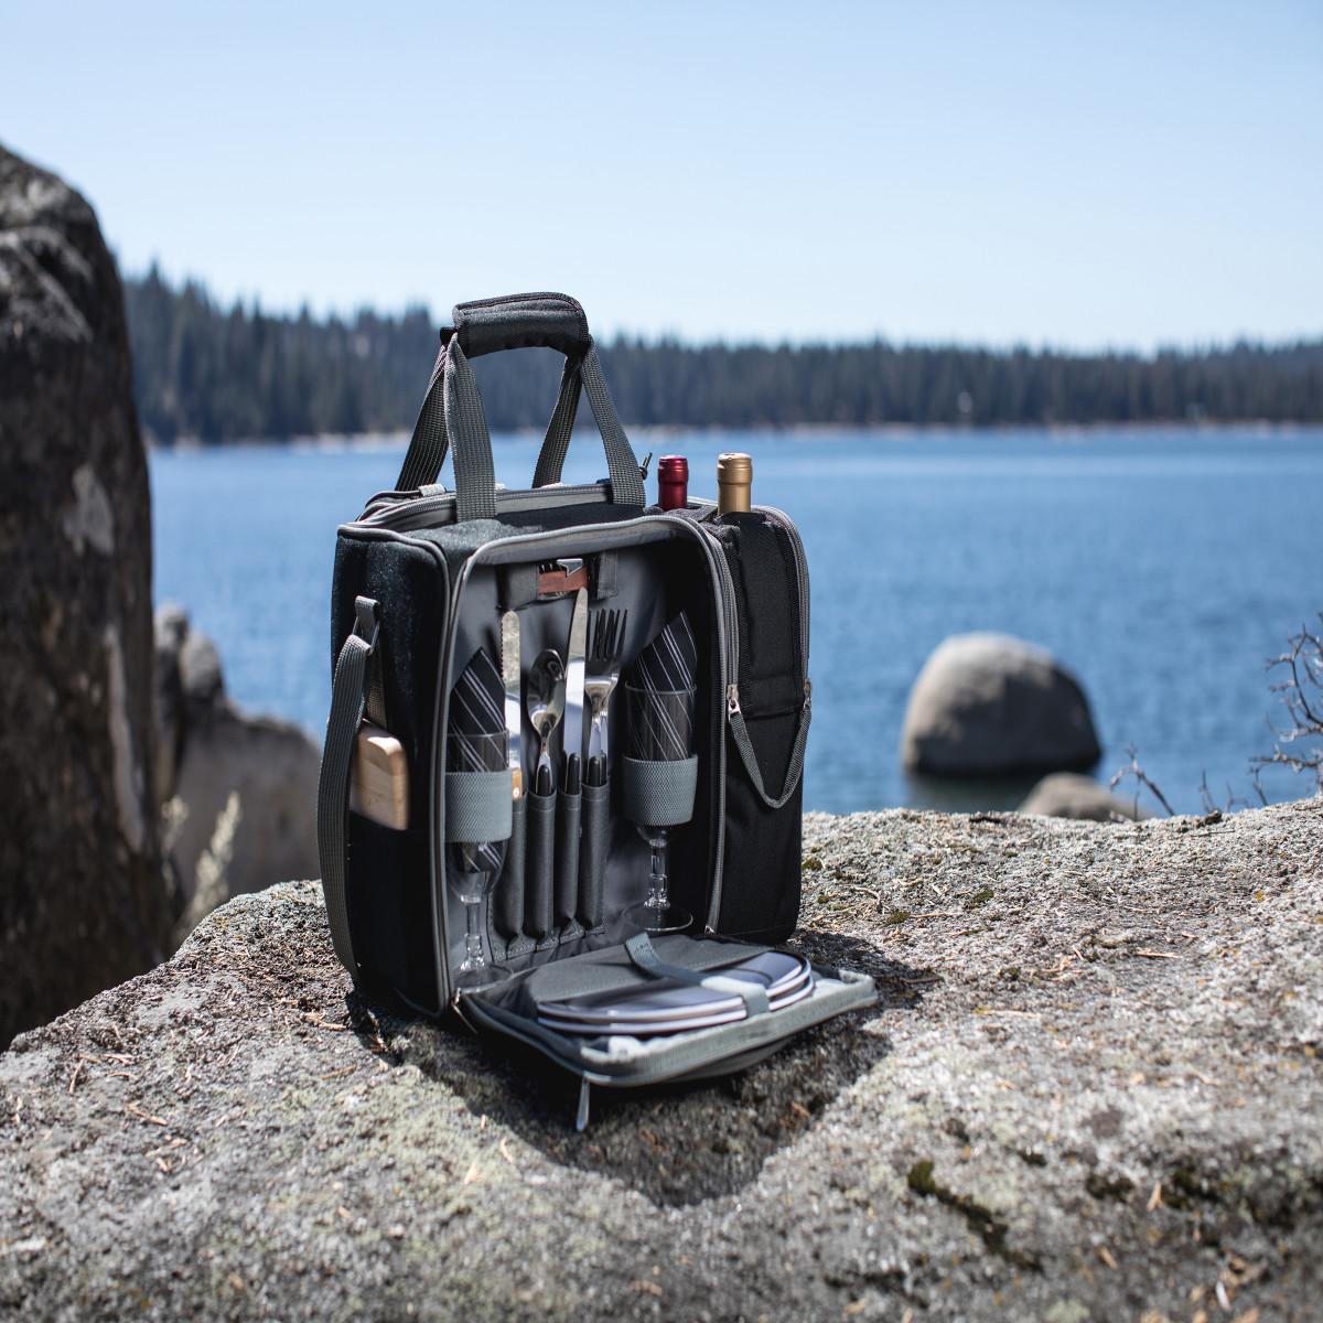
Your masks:
<path fill-rule="evenodd" d="M 693 916 L 671 900 L 667 852 L 671 828 L 693 816 L 692 777 L 667 775 L 667 763 L 683 766 L 693 751 L 697 689 L 654 689 L 626 681 L 627 757 L 624 804 L 652 851 L 647 900 L 626 917 L 646 933 L 679 933 Z"/>

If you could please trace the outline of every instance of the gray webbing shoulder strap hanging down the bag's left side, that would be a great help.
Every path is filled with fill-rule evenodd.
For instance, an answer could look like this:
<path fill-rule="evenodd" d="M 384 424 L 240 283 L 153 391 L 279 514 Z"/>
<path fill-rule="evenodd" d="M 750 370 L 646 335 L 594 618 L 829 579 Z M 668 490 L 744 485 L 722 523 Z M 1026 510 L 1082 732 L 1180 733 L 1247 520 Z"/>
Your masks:
<path fill-rule="evenodd" d="M 355 978 L 359 962 L 349 937 L 349 905 L 344 886 L 345 818 L 349 811 L 349 769 L 353 746 L 363 724 L 368 691 L 372 687 L 372 660 L 377 648 L 380 609 L 370 598 L 355 601 L 355 631 L 340 648 L 331 680 L 331 716 L 318 777 L 318 857 L 321 863 L 321 892 L 331 923 L 331 945 L 340 963 Z M 359 631 L 370 622 L 366 638 Z"/>

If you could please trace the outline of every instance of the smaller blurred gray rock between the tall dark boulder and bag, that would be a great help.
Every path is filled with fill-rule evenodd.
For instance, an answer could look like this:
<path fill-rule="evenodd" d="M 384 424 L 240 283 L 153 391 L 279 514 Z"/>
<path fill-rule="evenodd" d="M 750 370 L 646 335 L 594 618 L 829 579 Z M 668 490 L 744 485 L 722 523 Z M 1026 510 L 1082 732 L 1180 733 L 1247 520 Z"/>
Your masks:
<path fill-rule="evenodd" d="M 222 901 L 318 871 L 321 753 L 295 725 L 225 692 L 212 640 L 177 606 L 156 613 L 157 794 L 181 941 Z"/>

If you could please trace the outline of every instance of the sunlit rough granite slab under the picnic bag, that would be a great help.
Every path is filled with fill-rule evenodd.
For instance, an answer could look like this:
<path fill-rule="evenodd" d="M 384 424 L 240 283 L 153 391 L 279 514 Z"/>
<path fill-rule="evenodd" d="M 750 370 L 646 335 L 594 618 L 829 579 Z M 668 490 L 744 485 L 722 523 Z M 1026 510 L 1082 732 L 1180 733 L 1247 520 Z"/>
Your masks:
<path fill-rule="evenodd" d="M 798 945 L 880 1005 L 582 1135 L 528 1060 L 347 998 L 315 884 L 230 902 L 0 1056 L 0 1308 L 1308 1316 L 1323 799 L 815 815 L 804 878 Z"/>

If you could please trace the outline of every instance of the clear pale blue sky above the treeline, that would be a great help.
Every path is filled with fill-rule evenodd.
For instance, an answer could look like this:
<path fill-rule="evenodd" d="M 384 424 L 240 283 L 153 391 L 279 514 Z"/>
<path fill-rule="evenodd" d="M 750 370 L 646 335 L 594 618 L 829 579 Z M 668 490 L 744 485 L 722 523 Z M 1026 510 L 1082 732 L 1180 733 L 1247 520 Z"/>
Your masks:
<path fill-rule="evenodd" d="M 1323 333 L 1323 4 L 12 4 L 130 270 L 598 329 Z"/>

